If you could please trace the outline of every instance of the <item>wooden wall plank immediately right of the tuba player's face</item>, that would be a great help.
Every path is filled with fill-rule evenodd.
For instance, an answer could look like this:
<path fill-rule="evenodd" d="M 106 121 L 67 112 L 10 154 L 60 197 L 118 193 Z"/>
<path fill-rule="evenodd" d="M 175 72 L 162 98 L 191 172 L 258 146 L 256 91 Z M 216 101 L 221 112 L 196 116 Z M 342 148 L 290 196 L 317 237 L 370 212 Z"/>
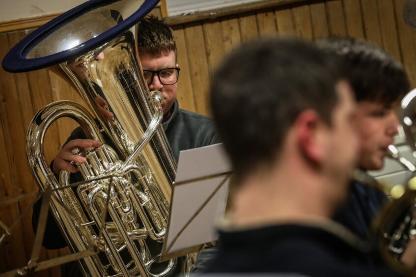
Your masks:
<path fill-rule="evenodd" d="M 178 49 L 178 64 L 181 68 L 178 81 L 178 99 L 179 107 L 188 111 L 196 111 L 191 81 L 191 70 L 188 61 L 187 45 L 185 40 L 185 32 L 183 26 L 175 26 L 173 28 L 175 35 L 176 47 Z"/>

